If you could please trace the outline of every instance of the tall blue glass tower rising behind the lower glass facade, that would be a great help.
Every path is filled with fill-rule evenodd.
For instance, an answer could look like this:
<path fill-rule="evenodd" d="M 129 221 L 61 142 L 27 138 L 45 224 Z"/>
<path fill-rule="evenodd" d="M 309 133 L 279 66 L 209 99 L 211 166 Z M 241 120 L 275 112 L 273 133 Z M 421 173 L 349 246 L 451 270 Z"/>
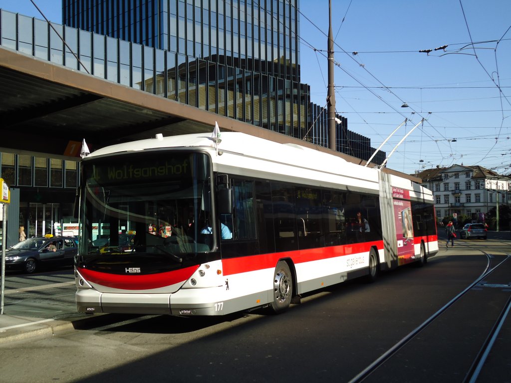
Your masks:
<path fill-rule="evenodd" d="M 291 81 L 298 0 L 63 0 L 66 26 Z"/>

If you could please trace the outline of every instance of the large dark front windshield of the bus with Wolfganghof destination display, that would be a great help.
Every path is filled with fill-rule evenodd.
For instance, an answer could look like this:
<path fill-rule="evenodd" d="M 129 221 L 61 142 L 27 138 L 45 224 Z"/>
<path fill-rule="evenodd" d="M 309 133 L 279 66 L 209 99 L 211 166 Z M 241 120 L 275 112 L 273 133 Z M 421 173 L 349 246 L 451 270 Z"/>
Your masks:
<path fill-rule="evenodd" d="M 211 210 L 210 159 L 203 153 L 145 152 L 82 163 L 83 261 L 147 256 L 182 264 L 210 252 L 201 229 Z"/>

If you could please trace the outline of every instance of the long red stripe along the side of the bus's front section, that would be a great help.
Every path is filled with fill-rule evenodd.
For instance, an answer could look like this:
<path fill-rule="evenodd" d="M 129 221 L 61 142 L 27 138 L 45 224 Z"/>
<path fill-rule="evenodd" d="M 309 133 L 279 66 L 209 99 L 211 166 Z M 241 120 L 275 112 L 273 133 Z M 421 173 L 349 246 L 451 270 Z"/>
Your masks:
<path fill-rule="evenodd" d="M 340 257 L 356 253 L 368 253 L 371 246 L 376 246 L 378 249 L 382 249 L 383 241 L 226 258 L 222 259 L 223 275 L 227 276 L 256 270 L 271 269 L 274 268 L 277 261 L 282 258 L 291 258 L 294 264 L 300 264 L 303 262 Z"/>

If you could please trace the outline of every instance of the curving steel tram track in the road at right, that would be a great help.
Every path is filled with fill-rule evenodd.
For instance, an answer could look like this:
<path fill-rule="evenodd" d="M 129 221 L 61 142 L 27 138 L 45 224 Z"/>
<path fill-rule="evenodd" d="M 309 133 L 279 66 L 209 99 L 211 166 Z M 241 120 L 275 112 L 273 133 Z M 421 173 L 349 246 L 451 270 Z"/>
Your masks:
<path fill-rule="evenodd" d="M 468 245 L 467 247 L 471 247 Z M 378 381 L 381 380 L 379 371 L 383 370 L 386 364 L 390 364 L 393 358 L 398 358 L 398 353 L 403 352 L 402 350 L 405 347 L 410 346 L 414 340 L 416 340 L 421 333 L 427 330 L 434 323 L 438 322 L 439 318 L 446 314 L 452 307 L 460 302 L 462 299 L 466 298 L 468 294 L 472 291 L 482 290 L 482 289 L 495 289 L 501 288 L 503 291 L 506 291 L 507 287 L 507 298 L 505 304 L 503 304 L 499 310 L 498 315 L 496 315 L 496 319 L 494 319 L 491 329 L 488 331 L 487 336 L 484 341 L 481 342 L 481 346 L 476 353 L 475 356 L 472 357 L 470 362 L 470 368 L 466 369 L 463 374 L 464 378 L 463 383 L 474 383 L 477 381 L 477 378 L 484 367 L 485 361 L 489 356 L 492 347 L 495 344 L 496 339 L 499 336 L 499 331 L 501 330 L 504 321 L 508 318 L 509 312 L 511 310 L 511 282 L 509 279 L 506 279 L 504 283 L 492 283 L 495 282 L 492 280 L 493 276 L 497 274 L 502 269 L 508 270 L 511 267 L 511 254 L 500 251 L 501 254 L 492 254 L 486 251 L 478 250 L 483 253 L 486 258 L 486 266 L 483 272 L 470 284 L 466 289 L 457 294 L 454 298 L 452 298 L 449 302 L 447 302 L 442 308 L 438 309 L 436 313 L 426 319 L 422 324 L 417 326 L 411 332 L 409 332 L 404 338 L 402 338 L 399 342 L 390 347 L 387 351 L 385 351 L 382 355 L 380 355 L 373 363 L 369 364 L 365 369 L 359 372 L 356 376 L 354 376 L 349 383 L 359 383 L 362 381 Z M 497 250 L 497 249 L 494 249 Z M 500 250 L 500 249 L 499 249 Z M 497 252 L 499 252 L 497 250 Z M 503 254 L 502 254 L 503 253 Z M 498 261 L 498 257 L 504 256 L 502 260 Z M 497 262 L 495 266 L 492 267 L 492 264 Z M 504 275 L 509 275 L 505 274 Z M 502 276 L 497 276 L 497 280 L 502 278 Z M 495 279 L 495 278 L 494 278 Z M 506 284 L 507 283 L 507 284 Z M 403 352 L 404 353 L 404 352 Z M 474 354 L 472 354 L 474 355 Z M 394 361 L 395 363 L 395 361 Z M 459 376 L 459 371 L 458 371 Z M 395 380 L 399 381 L 399 380 Z M 414 380 L 416 381 L 416 380 Z M 427 380 L 424 380 L 427 381 Z"/>

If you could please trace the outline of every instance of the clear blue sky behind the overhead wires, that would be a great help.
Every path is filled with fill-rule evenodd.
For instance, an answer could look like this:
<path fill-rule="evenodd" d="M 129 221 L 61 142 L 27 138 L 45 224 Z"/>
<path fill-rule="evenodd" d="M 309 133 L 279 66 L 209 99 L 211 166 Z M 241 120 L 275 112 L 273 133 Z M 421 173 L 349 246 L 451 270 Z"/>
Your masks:
<path fill-rule="evenodd" d="M 61 22 L 60 0 L 35 2 L 51 21 Z M 349 129 L 378 148 L 408 118 L 382 148 L 389 154 L 426 118 L 388 167 L 414 173 L 464 164 L 511 173 L 511 1 L 332 3 L 336 109 Z M 42 18 L 30 0 L 0 0 L 0 8 Z M 328 0 L 300 0 L 300 12 L 301 82 L 324 106 Z M 445 51 L 418 52 L 443 45 Z"/>

